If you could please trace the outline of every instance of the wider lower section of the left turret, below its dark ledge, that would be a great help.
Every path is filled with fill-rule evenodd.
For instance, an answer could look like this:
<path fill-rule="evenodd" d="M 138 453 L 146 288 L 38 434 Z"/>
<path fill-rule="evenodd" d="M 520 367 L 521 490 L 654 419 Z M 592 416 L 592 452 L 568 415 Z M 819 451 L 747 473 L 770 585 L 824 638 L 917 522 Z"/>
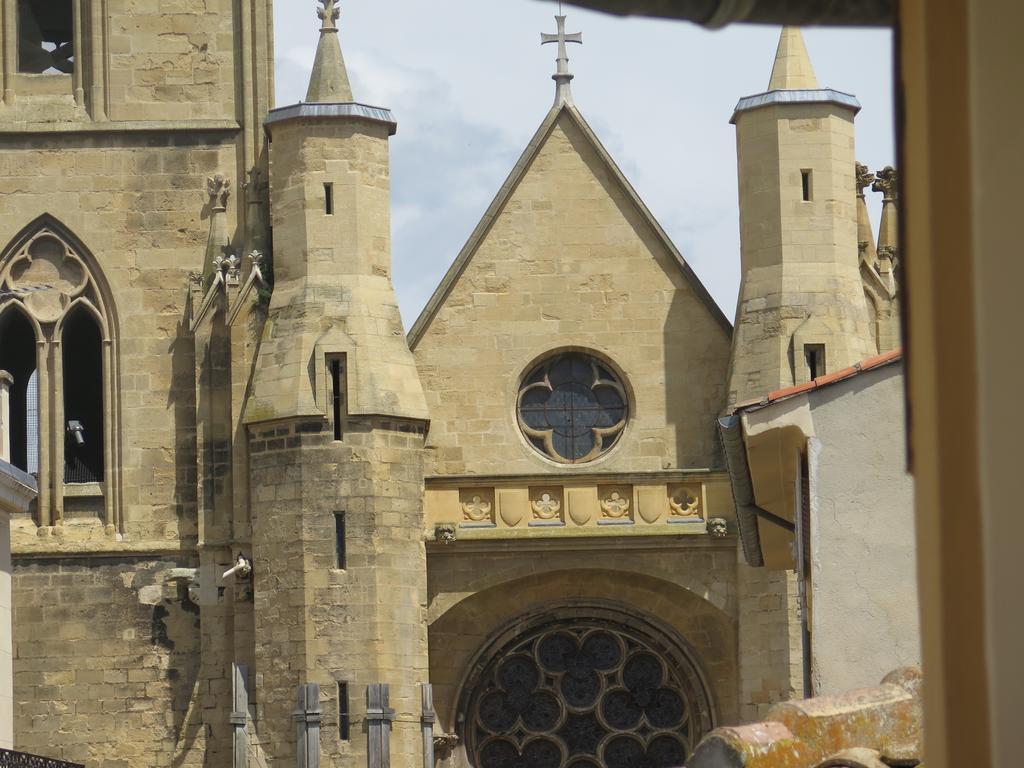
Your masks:
<path fill-rule="evenodd" d="M 294 764 L 296 686 L 317 682 L 325 762 L 366 762 L 366 689 L 391 686 L 391 765 L 422 765 L 427 682 L 423 425 L 349 419 L 251 427 L 257 738 L 270 766 Z M 344 513 L 338 567 L 336 513 Z M 339 738 L 338 686 L 351 737 Z"/>

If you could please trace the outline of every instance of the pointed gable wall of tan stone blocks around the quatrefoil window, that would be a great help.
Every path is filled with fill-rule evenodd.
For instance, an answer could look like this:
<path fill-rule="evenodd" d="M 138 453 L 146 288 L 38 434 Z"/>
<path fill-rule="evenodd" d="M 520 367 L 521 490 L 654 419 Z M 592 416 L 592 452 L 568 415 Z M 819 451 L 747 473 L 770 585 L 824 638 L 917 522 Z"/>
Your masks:
<path fill-rule="evenodd" d="M 430 473 L 582 471 L 541 457 L 518 385 L 549 353 L 590 350 L 626 382 L 631 423 L 593 471 L 719 466 L 729 332 L 579 124 L 563 113 L 415 352 Z"/>

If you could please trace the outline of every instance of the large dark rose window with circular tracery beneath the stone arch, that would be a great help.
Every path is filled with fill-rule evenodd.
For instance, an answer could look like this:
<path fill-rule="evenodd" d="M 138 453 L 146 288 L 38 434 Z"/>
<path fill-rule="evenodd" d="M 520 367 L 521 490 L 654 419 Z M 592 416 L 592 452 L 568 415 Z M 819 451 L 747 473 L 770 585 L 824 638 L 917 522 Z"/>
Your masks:
<path fill-rule="evenodd" d="M 466 732 L 476 768 L 679 768 L 712 727 L 682 653 L 633 628 L 572 620 L 506 645 L 484 667 Z"/>

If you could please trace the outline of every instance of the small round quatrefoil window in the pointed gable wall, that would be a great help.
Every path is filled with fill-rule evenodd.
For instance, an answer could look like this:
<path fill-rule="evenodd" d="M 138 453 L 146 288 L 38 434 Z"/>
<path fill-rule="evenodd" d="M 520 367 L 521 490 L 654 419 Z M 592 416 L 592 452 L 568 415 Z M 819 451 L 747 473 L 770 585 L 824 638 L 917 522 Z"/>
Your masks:
<path fill-rule="evenodd" d="M 519 388 L 519 426 L 549 459 L 582 464 L 606 454 L 626 429 L 629 406 L 618 376 L 582 352 L 549 357 Z"/>

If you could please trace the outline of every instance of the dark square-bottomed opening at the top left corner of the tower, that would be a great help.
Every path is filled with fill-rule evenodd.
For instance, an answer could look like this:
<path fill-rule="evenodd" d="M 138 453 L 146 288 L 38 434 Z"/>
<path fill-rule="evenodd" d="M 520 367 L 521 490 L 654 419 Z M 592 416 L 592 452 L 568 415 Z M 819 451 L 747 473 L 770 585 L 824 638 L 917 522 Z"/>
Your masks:
<path fill-rule="evenodd" d="M 75 71 L 72 0 L 18 0 L 17 71 L 30 75 Z"/>

